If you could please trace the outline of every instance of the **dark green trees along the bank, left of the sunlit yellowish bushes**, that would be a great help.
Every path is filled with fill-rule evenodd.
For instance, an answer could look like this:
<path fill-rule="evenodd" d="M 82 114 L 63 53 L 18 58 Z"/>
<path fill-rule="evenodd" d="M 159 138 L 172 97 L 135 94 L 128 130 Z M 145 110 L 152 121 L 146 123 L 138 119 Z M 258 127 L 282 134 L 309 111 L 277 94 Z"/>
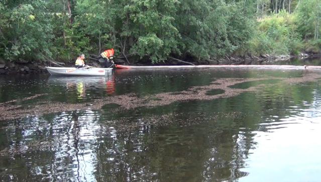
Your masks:
<path fill-rule="evenodd" d="M 251 37 L 251 1 L 4 1 L 0 54 L 6 60 L 74 58 L 114 47 L 117 55 L 164 61 L 231 54 Z M 242 13 L 239 13 L 241 10 Z"/>

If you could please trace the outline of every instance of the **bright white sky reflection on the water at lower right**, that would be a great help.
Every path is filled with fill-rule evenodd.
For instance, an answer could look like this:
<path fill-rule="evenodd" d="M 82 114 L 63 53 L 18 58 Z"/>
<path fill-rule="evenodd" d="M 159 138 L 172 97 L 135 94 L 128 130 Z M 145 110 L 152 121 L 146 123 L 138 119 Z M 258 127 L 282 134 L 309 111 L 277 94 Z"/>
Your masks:
<path fill-rule="evenodd" d="M 240 181 L 258 181 L 262 176 L 266 181 L 318 180 L 321 159 L 315 151 L 321 149 L 321 97 L 319 91 L 312 93 L 311 102 L 301 101 L 287 108 L 287 115 L 273 115 L 253 131 L 257 145 L 244 169 L 250 175 Z"/>

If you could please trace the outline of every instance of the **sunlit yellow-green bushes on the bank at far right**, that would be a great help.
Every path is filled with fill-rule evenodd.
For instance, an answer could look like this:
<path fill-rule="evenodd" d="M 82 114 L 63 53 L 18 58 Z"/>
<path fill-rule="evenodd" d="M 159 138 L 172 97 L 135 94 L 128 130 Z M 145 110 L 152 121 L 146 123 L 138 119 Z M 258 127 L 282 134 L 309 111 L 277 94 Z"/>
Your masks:
<path fill-rule="evenodd" d="M 318 0 L 301 1 L 294 13 L 285 10 L 258 21 L 255 36 L 250 41 L 253 54 L 298 54 L 321 52 L 321 3 Z"/>

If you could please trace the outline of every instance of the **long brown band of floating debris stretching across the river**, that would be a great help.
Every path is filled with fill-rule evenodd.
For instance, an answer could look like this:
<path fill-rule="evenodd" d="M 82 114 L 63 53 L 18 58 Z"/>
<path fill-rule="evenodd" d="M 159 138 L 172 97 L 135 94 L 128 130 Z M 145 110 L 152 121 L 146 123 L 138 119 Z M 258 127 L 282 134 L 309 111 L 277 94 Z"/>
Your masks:
<path fill-rule="evenodd" d="M 108 104 L 119 105 L 114 112 L 120 110 L 130 110 L 134 108 L 169 105 L 175 102 L 185 102 L 191 100 L 214 100 L 218 98 L 234 97 L 244 92 L 254 92 L 263 85 L 273 83 L 303 83 L 316 81 L 321 78 L 318 74 L 304 74 L 300 78 L 222 78 L 211 82 L 205 86 L 194 86 L 181 92 L 163 92 L 139 97 L 137 94 L 116 95 L 92 99 L 87 103 L 63 103 L 54 101 L 38 101 L 32 105 L 11 105 L 13 101 L 0 103 L 0 120 L 25 118 L 28 116 L 40 116 L 46 113 L 56 113 L 74 110 L 109 110 L 103 108 Z M 217 83 L 220 83 L 219 85 Z M 210 90 L 224 90 L 225 92 L 217 95 L 208 95 Z M 176 93 L 173 95 L 173 93 Z M 34 97 L 38 97 L 35 95 Z M 30 97 L 29 97 L 30 98 Z M 29 99 L 25 98 L 25 99 Z M 151 99 L 156 98 L 156 99 Z M 14 102 L 13 102 L 14 103 Z"/>

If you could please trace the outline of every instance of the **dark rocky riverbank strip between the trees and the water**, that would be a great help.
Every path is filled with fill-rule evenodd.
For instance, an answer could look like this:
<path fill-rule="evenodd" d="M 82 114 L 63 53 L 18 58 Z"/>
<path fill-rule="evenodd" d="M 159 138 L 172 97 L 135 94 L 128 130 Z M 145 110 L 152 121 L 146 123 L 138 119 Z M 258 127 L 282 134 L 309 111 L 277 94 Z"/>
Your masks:
<path fill-rule="evenodd" d="M 260 56 L 236 56 L 236 57 L 228 57 L 215 59 L 215 60 L 202 60 L 202 61 L 193 61 L 193 60 L 184 60 L 194 65 L 273 65 L 273 64 L 287 64 L 288 61 L 292 59 L 298 60 L 309 60 L 313 58 L 320 57 L 321 55 L 308 55 L 308 54 L 300 54 L 300 56 L 290 56 L 290 55 L 281 55 L 281 56 L 272 56 L 268 54 L 260 55 Z M 88 65 L 99 67 L 99 64 L 95 61 L 86 61 Z M 116 60 L 116 64 L 124 64 L 122 60 Z M 64 67 L 73 67 L 73 63 L 65 62 L 60 63 L 59 65 Z M 132 63 L 132 66 L 169 66 L 169 65 L 186 65 L 177 59 L 168 60 L 161 64 L 142 64 L 142 63 Z M 55 63 L 52 62 L 26 62 L 20 61 L 15 63 L 6 63 L 4 61 L 0 62 L 0 75 L 2 74 L 30 74 L 30 73 L 46 73 L 46 66 L 56 66 Z"/>

